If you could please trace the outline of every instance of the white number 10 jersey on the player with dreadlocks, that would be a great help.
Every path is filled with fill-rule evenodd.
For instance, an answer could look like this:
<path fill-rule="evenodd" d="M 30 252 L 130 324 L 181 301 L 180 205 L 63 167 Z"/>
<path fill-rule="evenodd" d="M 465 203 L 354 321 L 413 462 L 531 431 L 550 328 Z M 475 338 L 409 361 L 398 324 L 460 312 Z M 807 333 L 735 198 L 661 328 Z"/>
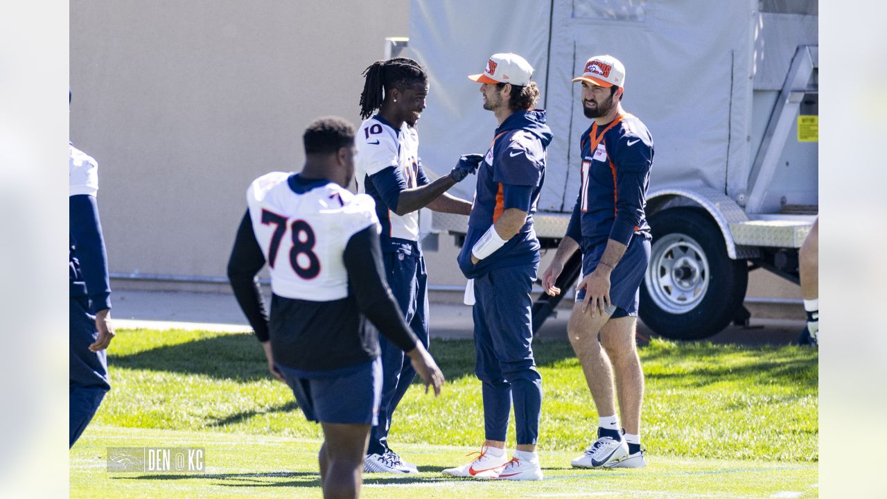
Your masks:
<path fill-rule="evenodd" d="M 392 176 L 380 178 L 389 184 L 391 178 L 399 176 L 405 181 L 405 188 L 424 185 L 428 182 L 421 170 L 419 158 L 419 133 L 404 123 L 396 131 L 389 123 L 373 116 L 360 125 L 355 138 L 357 164 L 355 179 L 357 192 L 369 194 L 376 202 L 376 215 L 381 220 L 382 234 L 409 241 L 419 241 L 419 211 L 404 216 L 387 210 L 389 206 L 382 195 L 380 185 L 373 185 L 370 177 L 383 170 L 391 169 Z M 382 176 L 385 177 L 385 176 Z"/>

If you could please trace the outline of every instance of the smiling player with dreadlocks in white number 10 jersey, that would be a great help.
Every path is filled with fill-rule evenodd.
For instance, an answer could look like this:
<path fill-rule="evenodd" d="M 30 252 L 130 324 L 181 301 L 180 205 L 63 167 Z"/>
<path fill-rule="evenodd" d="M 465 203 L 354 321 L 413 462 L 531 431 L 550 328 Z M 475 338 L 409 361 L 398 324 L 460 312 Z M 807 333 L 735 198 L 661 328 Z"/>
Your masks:
<path fill-rule="evenodd" d="M 463 156 L 456 168 L 431 181 L 419 157 L 416 123 L 425 109 L 428 75 L 412 59 L 379 60 L 367 67 L 357 132 L 357 191 L 373 197 L 381 221 L 382 261 L 389 286 L 404 318 L 428 346 L 428 274 L 419 244 L 419 210 L 467 215 L 471 203 L 444 194 L 477 168 L 478 154 Z M 378 113 L 373 114 L 376 109 Z M 415 376 L 404 352 L 380 338 L 382 400 L 373 427 L 364 471 L 416 473 L 389 448 L 395 408 Z"/>

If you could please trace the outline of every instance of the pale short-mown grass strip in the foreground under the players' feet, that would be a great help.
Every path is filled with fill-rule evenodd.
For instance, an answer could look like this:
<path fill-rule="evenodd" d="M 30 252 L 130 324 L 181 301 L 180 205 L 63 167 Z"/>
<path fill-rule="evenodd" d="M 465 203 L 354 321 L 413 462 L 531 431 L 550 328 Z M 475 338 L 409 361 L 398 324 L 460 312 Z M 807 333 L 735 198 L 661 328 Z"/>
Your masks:
<path fill-rule="evenodd" d="M 71 497 L 317 497 L 319 440 L 246 436 L 224 432 L 90 426 L 71 451 Z M 106 447 L 200 446 L 207 473 L 109 474 Z M 567 451 L 542 455 L 541 482 L 451 479 L 440 470 L 461 463 L 472 448 L 401 446 L 423 471 L 417 476 L 365 474 L 364 497 L 769 497 L 801 491 L 815 497 L 815 463 L 773 463 L 653 456 L 643 470 L 573 470 Z"/>

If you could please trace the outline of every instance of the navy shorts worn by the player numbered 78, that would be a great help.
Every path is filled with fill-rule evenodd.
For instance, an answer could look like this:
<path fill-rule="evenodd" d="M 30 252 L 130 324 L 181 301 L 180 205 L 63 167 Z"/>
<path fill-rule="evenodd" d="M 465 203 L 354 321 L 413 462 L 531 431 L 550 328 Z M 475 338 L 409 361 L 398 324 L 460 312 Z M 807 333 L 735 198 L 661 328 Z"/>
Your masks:
<path fill-rule="evenodd" d="M 382 391 L 382 364 L 375 360 L 341 376 L 317 376 L 277 364 L 295 401 L 309 421 L 315 423 L 375 425 Z"/>

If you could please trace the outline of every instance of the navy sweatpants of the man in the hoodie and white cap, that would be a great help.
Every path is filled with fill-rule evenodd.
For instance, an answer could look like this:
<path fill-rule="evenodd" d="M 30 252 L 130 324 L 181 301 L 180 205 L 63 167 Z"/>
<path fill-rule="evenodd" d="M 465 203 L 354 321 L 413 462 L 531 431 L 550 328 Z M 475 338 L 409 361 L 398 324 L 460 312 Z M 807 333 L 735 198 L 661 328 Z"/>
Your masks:
<path fill-rule="evenodd" d="M 487 440 L 506 440 L 512 404 L 518 445 L 538 439 L 542 376 L 530 345 L 537 271 L 538 264 L 524 265 L 475 277 L 475 374 L 483 383 Z"/>

